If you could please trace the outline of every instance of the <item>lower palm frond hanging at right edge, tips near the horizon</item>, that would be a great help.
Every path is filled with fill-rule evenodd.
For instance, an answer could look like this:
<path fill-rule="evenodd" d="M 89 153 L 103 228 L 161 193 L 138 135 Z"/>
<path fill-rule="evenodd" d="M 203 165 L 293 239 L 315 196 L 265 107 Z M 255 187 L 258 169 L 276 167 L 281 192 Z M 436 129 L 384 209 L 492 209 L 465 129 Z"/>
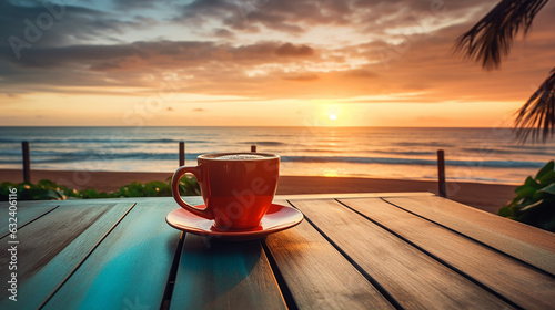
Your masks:
<path fill-rule="evenodd" d="M 545 142 L 555 134 L 555 68 L 516 113 L 515 133 L 522 143 L 531 135 L 533 141 L 541 136 Z"/>

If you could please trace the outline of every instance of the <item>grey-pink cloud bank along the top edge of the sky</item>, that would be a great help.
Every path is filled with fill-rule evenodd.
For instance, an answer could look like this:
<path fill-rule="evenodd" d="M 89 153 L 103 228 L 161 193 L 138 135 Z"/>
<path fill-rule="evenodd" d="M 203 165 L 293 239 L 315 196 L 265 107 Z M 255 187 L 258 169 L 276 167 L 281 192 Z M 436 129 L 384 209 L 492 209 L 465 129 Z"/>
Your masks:
<path fill-rule="evenodd" d="M 253 33 L 263 29 L 299 35 L 314 27 L 350 27 L 372 35 L 396 35 L 394 29 L 437 28 L 468 11 L 492 4 L 468 1 L 412 0 L 195 0 L 178 10 L 174 21 L 203 27 L 221 21 L 222 28 Z M 447 22 L 448 23 L 448 22 Z M 406 31 L 404 34 L 407 34 Z"/>

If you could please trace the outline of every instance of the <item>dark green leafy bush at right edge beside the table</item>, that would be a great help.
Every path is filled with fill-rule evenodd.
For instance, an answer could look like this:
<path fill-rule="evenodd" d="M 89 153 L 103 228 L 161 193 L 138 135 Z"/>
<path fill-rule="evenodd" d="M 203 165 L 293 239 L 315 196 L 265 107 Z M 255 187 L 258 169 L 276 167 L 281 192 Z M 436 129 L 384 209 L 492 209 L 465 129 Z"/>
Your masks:
<path fill-rule="evenodd" d="M 516 197 L 498 214 L 555 232 L 555 163 L 551 161 L 536 177 L 516 187 Z"/>

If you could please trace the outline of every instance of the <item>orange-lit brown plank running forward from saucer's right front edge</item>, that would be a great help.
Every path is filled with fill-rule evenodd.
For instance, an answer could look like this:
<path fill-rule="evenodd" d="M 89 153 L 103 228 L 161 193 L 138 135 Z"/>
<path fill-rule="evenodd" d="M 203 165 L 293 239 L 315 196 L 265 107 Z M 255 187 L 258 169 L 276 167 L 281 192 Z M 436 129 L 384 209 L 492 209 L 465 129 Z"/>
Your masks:
<path fill-rule="evenodd" d="M 306 220 L 265 244 L 300 309 L 394 309 Z"/>

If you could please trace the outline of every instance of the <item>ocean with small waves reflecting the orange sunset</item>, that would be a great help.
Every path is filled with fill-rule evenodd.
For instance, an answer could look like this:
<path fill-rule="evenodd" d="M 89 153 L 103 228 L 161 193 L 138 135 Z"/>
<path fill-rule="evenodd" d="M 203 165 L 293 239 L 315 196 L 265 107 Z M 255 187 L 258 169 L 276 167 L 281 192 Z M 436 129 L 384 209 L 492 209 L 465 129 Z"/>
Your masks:
<path fill-rule="evenodd" d="M 281 155 L 282 175 L 437 179 L 445 151 L 447 180 L 521 184 L 555 158 L 555 141 L 518 144 L 509 128 L 395 127 L 0 127 L 0 168 L 173 172 L 179 142 L 185 164 L 200 154 Z"/>

